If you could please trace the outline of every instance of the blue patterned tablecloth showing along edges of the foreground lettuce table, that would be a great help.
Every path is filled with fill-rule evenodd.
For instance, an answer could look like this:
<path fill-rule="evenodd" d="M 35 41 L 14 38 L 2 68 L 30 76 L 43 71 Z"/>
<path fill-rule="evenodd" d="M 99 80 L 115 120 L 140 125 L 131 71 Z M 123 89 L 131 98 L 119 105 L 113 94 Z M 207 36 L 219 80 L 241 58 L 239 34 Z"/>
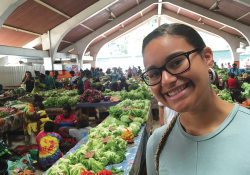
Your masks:
<path fill-rule="evenodd" d="M 135 141 L 133 144 L 127 145 L 127 152 L 125 154 L 126 159 L 120 164 L 112 164 L 106 166 L 106 169 L 110 169 L 111 166 L 114 166 L 116 169 L 124 170 L 123 174 L 131 174 L 137 175 L 139 174 L 141 162 L 144 160 L 146 156 L 146 143 L 148 140 L 147 131 L 145 129 L 145 125 L 141 126 L 140 132 L 137 137 L 135 137 Z M 88 142 L 88 136 L 84 137 L 80 140 L 67 154 L 63 157 L 75 153 L 77 149 L 80 148 L 81 145 L 85 145 Z M 56 165 L 57 162 L 54 164 Z M 49 170 L 47 170 L 43 175 L 47 175 Z"/>

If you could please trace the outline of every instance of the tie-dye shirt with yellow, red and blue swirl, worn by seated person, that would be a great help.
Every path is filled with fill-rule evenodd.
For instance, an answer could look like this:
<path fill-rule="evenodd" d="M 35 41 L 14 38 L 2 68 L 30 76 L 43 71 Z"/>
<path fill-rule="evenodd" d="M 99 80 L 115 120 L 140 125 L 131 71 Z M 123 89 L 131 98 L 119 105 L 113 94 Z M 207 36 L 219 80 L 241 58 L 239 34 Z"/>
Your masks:
<path fill-rule="evenodd" d="M 63 145 L 63 140 L 59 134 L 42 131 L 37 135 L 36 142 L 38 144 L 40 165 L 52 165 L 62 157 L 59 146 Z"/>

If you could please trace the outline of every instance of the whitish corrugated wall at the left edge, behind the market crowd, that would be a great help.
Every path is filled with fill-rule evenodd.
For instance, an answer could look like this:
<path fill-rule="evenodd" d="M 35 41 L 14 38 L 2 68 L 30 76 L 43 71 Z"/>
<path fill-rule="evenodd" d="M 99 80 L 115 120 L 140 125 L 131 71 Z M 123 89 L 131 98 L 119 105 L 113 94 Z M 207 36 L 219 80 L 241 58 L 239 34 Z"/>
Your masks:
<path fill-rule="evenodd" d="M 45 73 L 43 65 L 38 66 L 0 66 L 0 84 L 3 86 L 18 85 L 22 82 L 26 71 L 30 71 L 34 76 L 36 71 Z"/>

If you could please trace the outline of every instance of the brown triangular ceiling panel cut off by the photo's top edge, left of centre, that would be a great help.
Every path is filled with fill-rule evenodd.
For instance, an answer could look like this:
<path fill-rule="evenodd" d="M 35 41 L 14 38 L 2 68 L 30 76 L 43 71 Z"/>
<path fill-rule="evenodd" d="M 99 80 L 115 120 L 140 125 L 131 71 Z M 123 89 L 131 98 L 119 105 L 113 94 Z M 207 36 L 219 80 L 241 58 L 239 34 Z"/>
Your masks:
<path fill-rule="evenodd" d="M 77 13 L 91 6 L 99 0 L 42 0 L 44 3 L 54 7 L 68 16 L 75 16 Z"/>

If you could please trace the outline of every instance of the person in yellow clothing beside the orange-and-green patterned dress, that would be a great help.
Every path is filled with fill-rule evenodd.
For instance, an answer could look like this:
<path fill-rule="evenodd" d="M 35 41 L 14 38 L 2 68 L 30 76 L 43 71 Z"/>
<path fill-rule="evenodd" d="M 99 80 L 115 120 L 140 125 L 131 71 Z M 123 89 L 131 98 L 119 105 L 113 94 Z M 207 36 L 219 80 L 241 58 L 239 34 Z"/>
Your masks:
<path fill-rule="evenodd" d="M 32 135 L 32 133 L 37 135 L 39 132 L 43 131 L 43 126 L 46 122 L 52 121 L 52 120 L 50 120 L 50 118 L 46 114 L 46 111 L 44 110 L 43 104 L 39 104 L 37 106 L 37 113 L 33 114 L 32 119 L 38 120 L 38 121 L 28 124 L 27 131 L 28 131 L 29 135 Z"/>

